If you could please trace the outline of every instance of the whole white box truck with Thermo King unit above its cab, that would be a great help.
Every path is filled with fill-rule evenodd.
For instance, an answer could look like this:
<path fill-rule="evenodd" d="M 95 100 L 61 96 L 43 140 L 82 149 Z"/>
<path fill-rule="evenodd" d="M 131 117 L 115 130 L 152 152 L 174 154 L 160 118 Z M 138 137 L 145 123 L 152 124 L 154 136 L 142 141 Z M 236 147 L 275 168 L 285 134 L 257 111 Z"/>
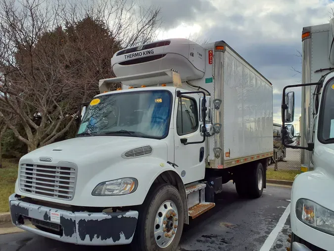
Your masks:
<path fill-rule="evenodd" d="M 67 243 L 176 250 L 233 180 L 260 197 L 273 156 L 272 84 L 224 41 L 127 48 L 75 138 L 19 162 L 15 226 Z M 114 83 L 122 88 L 110 91 Z M 29 227 L 32 222 L 35 227 Z"/>

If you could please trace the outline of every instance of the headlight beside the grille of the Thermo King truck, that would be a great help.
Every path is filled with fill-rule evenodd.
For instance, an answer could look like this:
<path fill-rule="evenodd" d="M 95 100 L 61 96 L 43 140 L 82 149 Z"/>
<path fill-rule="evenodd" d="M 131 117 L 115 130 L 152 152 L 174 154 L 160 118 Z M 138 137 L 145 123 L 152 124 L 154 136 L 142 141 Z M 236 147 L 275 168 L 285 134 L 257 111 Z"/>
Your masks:
<path fill-rule="evenodd" d="M 93 192 L 93 196 L 113 196 L 129 194 L 136 191 L 138 181 L 133 178 L 124 178 L 114 181 L 107 181 L 98 184 Z"/>

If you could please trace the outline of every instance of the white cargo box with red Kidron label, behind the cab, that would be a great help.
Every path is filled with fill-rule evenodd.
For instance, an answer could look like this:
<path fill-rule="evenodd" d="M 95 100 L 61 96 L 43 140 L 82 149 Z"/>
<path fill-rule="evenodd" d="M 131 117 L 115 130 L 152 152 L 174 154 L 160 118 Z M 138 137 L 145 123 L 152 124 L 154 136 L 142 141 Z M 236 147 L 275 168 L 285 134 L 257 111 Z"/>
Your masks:
<path fill-rule="evenodd" d="M 190 83 L 211 93 L 212 124 L 220 127 L 208 138 L 207 167 L 273 156 L 272 84 L 223 41 L 204 48 L 204 77 Z"/>

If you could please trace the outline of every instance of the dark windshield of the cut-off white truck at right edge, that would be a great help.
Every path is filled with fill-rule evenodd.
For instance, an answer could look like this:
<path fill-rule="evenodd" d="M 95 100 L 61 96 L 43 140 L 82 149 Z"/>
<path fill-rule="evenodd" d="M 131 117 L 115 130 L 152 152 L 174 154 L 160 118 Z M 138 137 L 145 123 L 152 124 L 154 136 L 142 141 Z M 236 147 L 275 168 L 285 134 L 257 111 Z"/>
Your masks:
<path fill-rule="evenodd" d="M 334 140 L 334 80 L 326 85 L 322 99 L 323 103 L 319 117 L 319 141 L 333 143 L 329 140 Z"/>

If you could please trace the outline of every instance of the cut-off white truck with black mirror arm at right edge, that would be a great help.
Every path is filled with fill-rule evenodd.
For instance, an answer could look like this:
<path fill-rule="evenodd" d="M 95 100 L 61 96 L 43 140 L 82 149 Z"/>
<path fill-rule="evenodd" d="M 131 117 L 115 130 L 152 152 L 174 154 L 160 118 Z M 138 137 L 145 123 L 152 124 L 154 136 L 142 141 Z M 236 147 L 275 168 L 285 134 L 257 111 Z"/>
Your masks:
<path fill-rule="evenodd" d="M 286 144 L 301 88 L 300 146 Z M 291 90 L 291 89 L 290 89 Z M 334 250 L 334 19 L 302 31 L 302 84 L 282 97 L 283 143 L 301 149 L 291 193 L 291 251 Z M 311 168 L 311 169 L 310 169 Z"/>

